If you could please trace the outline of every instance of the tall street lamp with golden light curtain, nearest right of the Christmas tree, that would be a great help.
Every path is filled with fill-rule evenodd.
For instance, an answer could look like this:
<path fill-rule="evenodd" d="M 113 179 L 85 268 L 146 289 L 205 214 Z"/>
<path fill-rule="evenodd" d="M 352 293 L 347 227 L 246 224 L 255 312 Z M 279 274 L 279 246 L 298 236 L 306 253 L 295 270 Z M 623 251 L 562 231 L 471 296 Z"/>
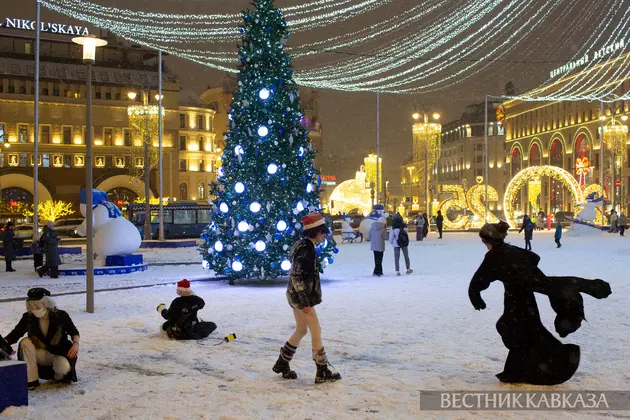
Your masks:
<path fill-rule="evenodd" d="M 425 211 L 431 214 L 429 210 L 429 170 L 433 169 L 433 165 L 437 162 L 441 151 L 441 134 L 442 126 L 437 123 L 429 122 L 429 114 L 427 111 L 423 113 L 423 122 L 419 122 L 420 113 L 414 112 L 411 117 L 413 124 L 413 161 L 414 166 L 420 167 L 420 163 L 424 161 L 424 188 L 425 188 Z M 435 121 L 440 119 L 440 114 L 434 112 L 432 118 Z M 437 187 L 437 186 L 436 186 Z"/>

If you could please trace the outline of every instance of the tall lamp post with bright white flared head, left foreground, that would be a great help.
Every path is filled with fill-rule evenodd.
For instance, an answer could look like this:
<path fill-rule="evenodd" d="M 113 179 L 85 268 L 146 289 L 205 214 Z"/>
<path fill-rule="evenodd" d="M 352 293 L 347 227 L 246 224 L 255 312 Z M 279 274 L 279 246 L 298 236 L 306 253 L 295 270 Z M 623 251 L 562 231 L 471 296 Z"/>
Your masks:
<path fill-rule="evenodd" d="M 94 35 L 72 38 L 72 42 L 83 46 L 83 63 L 87 66 L 86 106 L 85 106 L 85 219 L 87 220 L 86 258 L 86 311 L 94 313 L 94 219 L 92 216 L 92 64 L 96 58 L 96 48 L 107 45 L 107 41 Z M 37 157 L 35 157 L 37 164 Z"/>

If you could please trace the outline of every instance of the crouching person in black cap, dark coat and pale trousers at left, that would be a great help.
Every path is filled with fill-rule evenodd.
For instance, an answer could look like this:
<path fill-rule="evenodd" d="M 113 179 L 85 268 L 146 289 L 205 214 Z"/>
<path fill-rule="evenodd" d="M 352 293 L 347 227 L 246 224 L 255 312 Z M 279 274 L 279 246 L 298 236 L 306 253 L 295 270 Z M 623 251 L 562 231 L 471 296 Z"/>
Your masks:
<path fill-rule="evenodd" d="M 80 336 L 70 315 L 58 309 L 50 292 L 40 287 L 28 291 L 26 309 L 5 340 L 11 345 L 28 335 L 20 340 L 18 350 L 18 359 L 26 362 L 28 389 L 37 388 L 40 378 L 76 382 Z"/>

